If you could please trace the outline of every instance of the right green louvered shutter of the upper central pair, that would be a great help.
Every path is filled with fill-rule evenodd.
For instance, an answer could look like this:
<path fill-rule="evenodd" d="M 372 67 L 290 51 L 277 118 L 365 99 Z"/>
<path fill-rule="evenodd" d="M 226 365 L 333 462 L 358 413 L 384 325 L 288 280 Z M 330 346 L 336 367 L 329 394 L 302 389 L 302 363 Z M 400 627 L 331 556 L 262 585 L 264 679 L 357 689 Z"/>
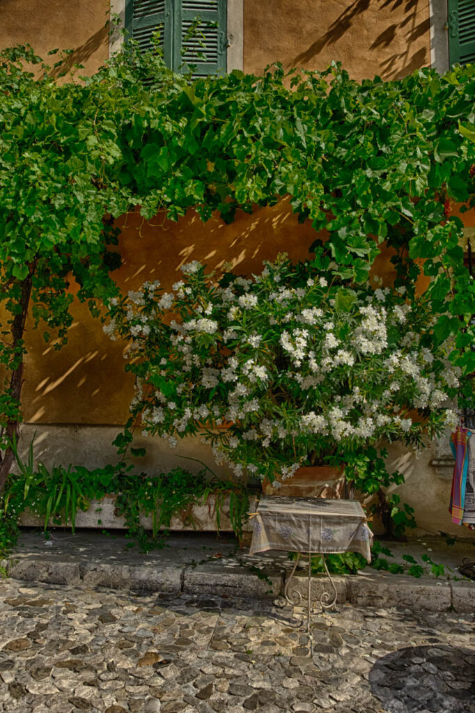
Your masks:
<path fill-rule="evenodd" d="M 227 0 L 175 0 L 173 68 L 193 76 L 226 71 Z M 196 21 L 198 27 L 193 31 Z"/>

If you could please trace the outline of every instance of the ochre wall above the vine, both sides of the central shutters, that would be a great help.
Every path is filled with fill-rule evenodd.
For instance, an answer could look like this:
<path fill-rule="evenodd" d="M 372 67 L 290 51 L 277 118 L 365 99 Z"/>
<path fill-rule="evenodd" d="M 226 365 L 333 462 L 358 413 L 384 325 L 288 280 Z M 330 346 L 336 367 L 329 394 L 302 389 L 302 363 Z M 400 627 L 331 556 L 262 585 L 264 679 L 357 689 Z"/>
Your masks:
<path fill-rule="evenodd" d="M 108 0 L 2 0 L 0 48 L 31 43 L 93 73 L 108 56 Z M 324 69 L 341 60 L 356 79 L 399 78 L 430 63 L 429 0 L 244 0 L 244 69 Z"/>

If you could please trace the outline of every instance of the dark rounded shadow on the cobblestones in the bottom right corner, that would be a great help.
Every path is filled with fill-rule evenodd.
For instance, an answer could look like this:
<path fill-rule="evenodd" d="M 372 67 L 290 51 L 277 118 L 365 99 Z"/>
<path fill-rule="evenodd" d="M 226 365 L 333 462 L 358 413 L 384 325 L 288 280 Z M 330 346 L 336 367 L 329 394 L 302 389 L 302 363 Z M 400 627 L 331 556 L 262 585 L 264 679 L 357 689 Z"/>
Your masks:
<path fill-rule="evenodd" d="M 429 641 L 434 644 L 400 649 L 377 660 L 369 672 L 372 694 L 387 713 L 473 712 L 475 650 L 445 645 L 436 637 Z"/>

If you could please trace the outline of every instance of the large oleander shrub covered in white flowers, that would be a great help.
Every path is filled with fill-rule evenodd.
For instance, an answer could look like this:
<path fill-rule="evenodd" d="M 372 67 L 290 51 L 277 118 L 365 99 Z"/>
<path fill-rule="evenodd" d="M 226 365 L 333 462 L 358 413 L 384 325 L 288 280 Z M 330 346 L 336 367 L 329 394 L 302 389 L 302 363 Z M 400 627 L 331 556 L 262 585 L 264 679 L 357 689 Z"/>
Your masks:
<path fill-rule="evenodd" d="M 318 260 L 280 257 L 251 279 L 182 270 L 172 292 L 147 282 L 109 304 L 144 434 L 173 446 L 199 431 L 218 463 L 272 481 L 454 425 L 458 374 L 424 297 L 349 289 Z"/>

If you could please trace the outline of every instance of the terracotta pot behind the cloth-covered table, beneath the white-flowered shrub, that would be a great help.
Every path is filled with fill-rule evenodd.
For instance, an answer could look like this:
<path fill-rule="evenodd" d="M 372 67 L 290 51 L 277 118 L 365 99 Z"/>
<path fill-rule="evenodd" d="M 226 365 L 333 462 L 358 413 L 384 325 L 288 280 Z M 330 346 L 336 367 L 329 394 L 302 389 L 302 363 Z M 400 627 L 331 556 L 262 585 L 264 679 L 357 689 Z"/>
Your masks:
<path fill-rule="evenodd" d="M 295 471 L 292 478 L 276 480 L 280 483 L 278 488 L 265 478 L 262 493 L 290 498 L 344 498 L 344 471 L 340 468 L 305 466 Z"/>

